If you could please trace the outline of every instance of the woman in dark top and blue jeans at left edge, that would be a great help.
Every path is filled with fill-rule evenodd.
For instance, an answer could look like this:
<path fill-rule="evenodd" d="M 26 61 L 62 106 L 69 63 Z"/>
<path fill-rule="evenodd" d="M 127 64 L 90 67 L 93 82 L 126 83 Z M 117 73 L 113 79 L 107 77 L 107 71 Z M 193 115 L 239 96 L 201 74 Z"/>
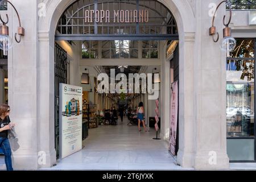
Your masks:
<path fill-rule="evenodd" d="M 5 164 L 7 171 L 13 171 L 13 164 L 11 162 L 11 147 L 8 139 L 8 130 L 11 130 L 15 126 L 11 123 L 10 118 L 10 106 L 2 104 L 0 105 L 0 147 L 3 154 L 5 154 Z"/>

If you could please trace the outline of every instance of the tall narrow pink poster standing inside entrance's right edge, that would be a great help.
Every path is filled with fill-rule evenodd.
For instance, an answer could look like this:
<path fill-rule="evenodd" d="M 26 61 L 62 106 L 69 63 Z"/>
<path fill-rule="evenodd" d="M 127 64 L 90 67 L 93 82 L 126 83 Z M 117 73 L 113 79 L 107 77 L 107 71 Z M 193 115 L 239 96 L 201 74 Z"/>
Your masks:
<path fill-rule="evenodd" d="M 171 105 L 170 105 L 170 138 L 169 150 L 172 155 L 176 155 L 176 137 L 177 137 L 177 114 L 178 114 L 178 82 L 172 83 Z"/>

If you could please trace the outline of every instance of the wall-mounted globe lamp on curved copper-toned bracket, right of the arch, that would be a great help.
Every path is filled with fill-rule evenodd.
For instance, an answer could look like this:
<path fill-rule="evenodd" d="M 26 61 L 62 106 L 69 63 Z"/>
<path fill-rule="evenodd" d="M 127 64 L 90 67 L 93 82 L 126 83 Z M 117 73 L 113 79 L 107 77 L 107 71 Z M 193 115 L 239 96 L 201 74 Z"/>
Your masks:
<path fill-rule="evenodd" d="M 217 10 L 222 3 L 226 3 L 226 5 L 229 6 L 229 14 L 230 15 L 229 15 L 228 23 L 225 23 L 226 15 L 224 15 L 224 17 L 223 17 L 223 24 L 224 24 L 225 28 L 223 28 L 223 39 L 221 42 L 221 49 L 222 49 L 222 51 L 229 52 L 229 51 L 233 51 L 233 49 L 236 48 L 237 42 L 236 42 L 236 39 L 234 39 L 232 37 L 231 28 L 229 27 L 229 23 L 231 22 L 231 19 L 232 19 L 232 10 L 231 10 L 231 5 L 228 1 L 222 1 L 222 2 L 220 2 L 220 4 L 218 4 L 218 6 L 214 12 L 214 15 L 213 15 L 212 27 L 209 28 L 209 35 L 212 36 L 214 42 L 218 42 L 220 35 L 218 34 L 218 32 L 216 32 L 216 27 L 214 27 L 214 20 L 215 20 Z M 214 38 L 215 35 L 217 35 L 217 38 Z"/>

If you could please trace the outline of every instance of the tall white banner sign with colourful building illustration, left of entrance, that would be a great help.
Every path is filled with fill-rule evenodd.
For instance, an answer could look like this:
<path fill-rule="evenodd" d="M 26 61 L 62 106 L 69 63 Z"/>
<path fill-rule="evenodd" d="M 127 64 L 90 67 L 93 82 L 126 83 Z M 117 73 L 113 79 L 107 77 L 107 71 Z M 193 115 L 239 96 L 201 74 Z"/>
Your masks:
<path fill-rule="evenodd" d="M 60 84 L 60 159 L 82 149 L 82 87 Z"/>

